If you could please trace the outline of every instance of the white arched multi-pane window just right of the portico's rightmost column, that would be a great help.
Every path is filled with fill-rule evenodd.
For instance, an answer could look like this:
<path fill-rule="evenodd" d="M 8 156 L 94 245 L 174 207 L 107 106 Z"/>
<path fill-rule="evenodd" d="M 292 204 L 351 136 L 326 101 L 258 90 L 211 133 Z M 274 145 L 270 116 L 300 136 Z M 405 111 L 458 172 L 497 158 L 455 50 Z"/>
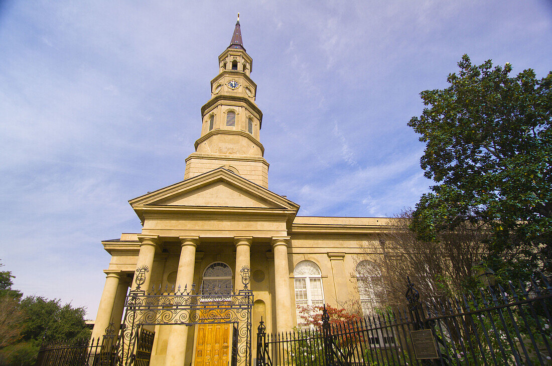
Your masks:
<path fill-rule="evenodd" d="M 322 289 L 322 273 L 320 268 L 310 260 L 304 260 L 295 266 L 293 271 L 295 284 L 295 304 L 297 309 L 297 323 L 303 320 L 299 317 L 300 307 L 322 306 L 324 292 Z"/>

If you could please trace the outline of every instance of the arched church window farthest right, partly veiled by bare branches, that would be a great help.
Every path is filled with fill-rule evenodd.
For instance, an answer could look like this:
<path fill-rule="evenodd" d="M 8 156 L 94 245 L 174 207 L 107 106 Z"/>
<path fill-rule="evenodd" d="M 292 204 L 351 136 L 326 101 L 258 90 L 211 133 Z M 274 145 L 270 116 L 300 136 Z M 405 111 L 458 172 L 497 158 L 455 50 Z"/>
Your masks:
<path fill-rule="evenodd" d="M 364 316 L 371 314 L 378 306 L 378 297 L 381 295 L 381 271 L 374 262 L 360 261 L 355 268 L 357 276 L 360 307 Z"/>

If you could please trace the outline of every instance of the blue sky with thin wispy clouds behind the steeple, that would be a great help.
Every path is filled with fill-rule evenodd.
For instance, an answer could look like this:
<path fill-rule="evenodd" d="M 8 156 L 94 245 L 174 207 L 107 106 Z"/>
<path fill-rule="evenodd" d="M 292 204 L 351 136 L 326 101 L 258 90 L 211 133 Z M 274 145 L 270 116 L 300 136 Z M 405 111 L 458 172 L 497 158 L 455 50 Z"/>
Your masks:
<path fill-rule="evenodd" d="M 552 2 L 0 0 L 0 259 L 94 319 L 128 200 L 182 181 L 240 12 L 268 188 L 303 216 L 392 216 L 432 184 L 407 122 L 467 53 L 551 69 Z"/>

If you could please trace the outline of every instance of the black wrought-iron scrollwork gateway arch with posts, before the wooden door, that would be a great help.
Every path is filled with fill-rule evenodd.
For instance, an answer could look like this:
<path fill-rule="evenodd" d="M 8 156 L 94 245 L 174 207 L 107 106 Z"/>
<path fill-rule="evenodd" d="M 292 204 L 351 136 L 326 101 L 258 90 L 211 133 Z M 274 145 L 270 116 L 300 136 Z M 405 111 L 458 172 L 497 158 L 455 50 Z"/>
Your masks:
<path fill-rule="evenodd" d="M 147 266 L 136 269 L 136 288 L 126 297 L 123 336 L 119 359 L 124 366 L 135 365 L 137 339 L 144 325 L 233 324 L 237 328 L 237 361 L 251 365 L 251 311 L 253 292 L 250 268 L 240 270 L 243 288 L 140 288 L 145 283 Z"/>

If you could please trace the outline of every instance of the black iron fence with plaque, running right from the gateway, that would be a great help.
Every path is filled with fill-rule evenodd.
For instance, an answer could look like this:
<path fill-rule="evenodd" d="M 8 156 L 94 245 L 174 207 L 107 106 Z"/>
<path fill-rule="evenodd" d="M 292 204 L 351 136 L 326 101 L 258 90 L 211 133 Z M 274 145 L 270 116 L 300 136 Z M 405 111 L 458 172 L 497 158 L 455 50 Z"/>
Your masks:
<path fill-rule="evenodd" d="M 362 319 L 257 334 L 257 365 L 552 365 L 552 287 L 545 276 Z"/>

